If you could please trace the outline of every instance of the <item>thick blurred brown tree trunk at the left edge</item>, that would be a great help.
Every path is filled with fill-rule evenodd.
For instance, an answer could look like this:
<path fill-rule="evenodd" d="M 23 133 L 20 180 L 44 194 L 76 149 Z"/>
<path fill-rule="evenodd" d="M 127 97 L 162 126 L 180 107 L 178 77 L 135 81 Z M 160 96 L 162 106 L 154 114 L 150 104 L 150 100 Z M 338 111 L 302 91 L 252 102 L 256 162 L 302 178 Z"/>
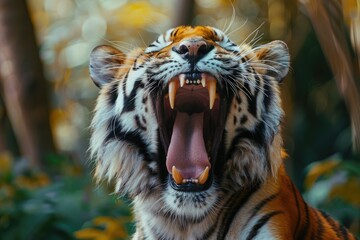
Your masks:
<path fill-rule="evenodd" d="M 25 0 L 0 1 L 0 84 L 19 148 L 41 167 L 54 144 L 47 82 Z"/>

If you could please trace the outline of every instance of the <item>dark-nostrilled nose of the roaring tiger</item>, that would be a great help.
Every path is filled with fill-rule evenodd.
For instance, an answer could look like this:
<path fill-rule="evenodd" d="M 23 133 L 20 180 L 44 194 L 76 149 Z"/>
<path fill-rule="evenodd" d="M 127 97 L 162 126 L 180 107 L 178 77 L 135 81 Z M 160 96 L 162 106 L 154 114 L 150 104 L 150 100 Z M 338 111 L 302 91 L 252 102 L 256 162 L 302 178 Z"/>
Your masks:
<path fill-rule="evenodd" d="M 199 39 L 187 39 L 175 49 L 184 59 L 193 58 L 199 60 L 213 49 L 214 46 Z"/>

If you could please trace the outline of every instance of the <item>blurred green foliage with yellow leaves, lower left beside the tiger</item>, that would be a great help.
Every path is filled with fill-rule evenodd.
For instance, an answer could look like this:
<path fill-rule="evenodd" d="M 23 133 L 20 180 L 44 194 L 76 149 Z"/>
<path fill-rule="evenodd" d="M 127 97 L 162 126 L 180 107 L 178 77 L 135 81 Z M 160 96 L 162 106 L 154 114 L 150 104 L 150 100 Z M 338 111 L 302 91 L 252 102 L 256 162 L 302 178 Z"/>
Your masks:
<path fill-rule="evenodd" d="M 7 156 L 0 157 L 1 239 L 75 239 L 75 232 L 91 228 L 94 218 L 98 225 L 104 223 L 99 219 L 112 219 L 126 226 L 118 228 L 116 234 L 121 234 L 117 235 L 109 235 L 108 228 L 99 229 L 98 236 L 124 239 L 131 231 L 126 200 L 109 196 L 106 189 L 93 184 L 88 174 L 79 170 L 72 171 L 77 174 L 58 172 L 50 179 L 40 172 L 16 174 L 11 165 Z M 69 162 L 63 165 L 76 168 Z"/>

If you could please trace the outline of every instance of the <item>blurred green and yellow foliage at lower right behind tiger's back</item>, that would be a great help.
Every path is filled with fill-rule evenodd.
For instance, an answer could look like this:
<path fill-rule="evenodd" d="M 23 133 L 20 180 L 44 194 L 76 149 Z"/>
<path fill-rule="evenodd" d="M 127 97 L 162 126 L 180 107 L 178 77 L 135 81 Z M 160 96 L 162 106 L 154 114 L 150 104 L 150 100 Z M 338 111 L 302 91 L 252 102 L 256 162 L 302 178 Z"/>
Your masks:
<path fill-rule="evenodd" d="M 304 197 L 360 235 L 360 163 L 333 156 L 307 168 Z"/>

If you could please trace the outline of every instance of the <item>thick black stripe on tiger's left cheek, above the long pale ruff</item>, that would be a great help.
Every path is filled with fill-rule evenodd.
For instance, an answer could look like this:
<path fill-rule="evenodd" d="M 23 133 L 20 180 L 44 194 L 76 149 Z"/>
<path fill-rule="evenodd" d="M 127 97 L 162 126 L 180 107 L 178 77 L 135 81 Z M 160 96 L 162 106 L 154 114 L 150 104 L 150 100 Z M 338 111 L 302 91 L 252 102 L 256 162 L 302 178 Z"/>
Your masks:
<path fill-rule="evenodd" d="M 112 117 L 108 123 L 108 134 L 105 138 L 104 144 L 106 145 L 111 140 L 125 141 L 130 145 L 136 147 L 139 153 L 144 156 L 144 160 L 150 162 L 154 159 L 154 154 L 151 154 L 147 146 L 149 145 L 144 141 L 139 131 L 123 131 L 123 126 L 120 120 L 115 116 Z"/>

